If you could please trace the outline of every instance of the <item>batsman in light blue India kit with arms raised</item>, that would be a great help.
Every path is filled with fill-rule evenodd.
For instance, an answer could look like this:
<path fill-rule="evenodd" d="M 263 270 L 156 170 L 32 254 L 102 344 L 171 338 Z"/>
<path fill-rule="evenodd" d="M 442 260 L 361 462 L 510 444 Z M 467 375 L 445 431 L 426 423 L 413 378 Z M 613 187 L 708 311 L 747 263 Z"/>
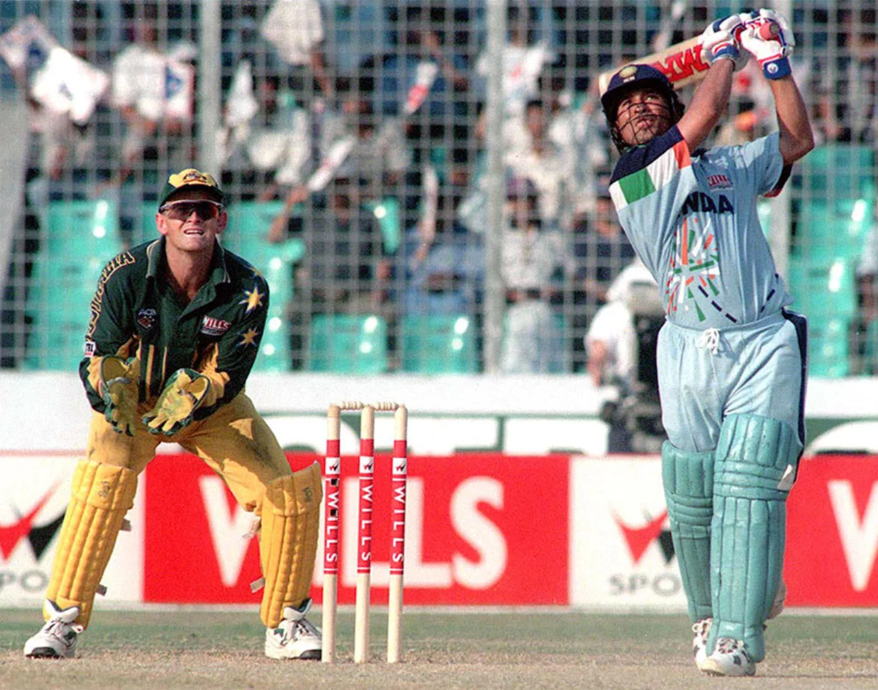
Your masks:
<path fill-rule="evenodd" d="M 766 620 L 783 605 L 807 363 L 806 321 L 788 309 L 756 200 L 781 191 L 814 140 L 785 18 L 760 10 L 717 20 L 701 43 L 710 68 L 687 109 L 666 76 L 642 64 L 621 68 L 601 102 L 621 154 L 610 193 L 666 310 L 657 355 L 662 478 L 695 664 L 746 676 L 765 658 Z M 770 84 L 778 131 L 700 148 L 750 57 Z"/>

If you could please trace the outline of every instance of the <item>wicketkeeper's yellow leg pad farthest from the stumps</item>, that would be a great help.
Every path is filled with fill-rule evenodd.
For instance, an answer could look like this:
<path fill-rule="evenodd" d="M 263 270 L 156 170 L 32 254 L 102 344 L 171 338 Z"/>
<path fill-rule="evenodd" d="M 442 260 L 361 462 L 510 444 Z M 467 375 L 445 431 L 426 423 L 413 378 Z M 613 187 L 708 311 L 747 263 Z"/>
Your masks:
<path fill-rule="evenodd" d="M 78 606 L 83 628 L 135 492 L 131 470 L 90 460 L 76 465 L 46 598 L 59 608 Z"/>

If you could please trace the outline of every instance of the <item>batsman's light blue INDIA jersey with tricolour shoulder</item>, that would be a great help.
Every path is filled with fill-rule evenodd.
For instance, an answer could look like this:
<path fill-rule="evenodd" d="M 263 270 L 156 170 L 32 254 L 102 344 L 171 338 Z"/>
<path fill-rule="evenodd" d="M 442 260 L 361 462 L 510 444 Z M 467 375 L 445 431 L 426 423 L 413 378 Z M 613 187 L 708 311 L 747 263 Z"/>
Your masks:
<path fill-rule="evenodd" d="M 615 210 L 673 323 L 742 326 L 792 303 L 756 212 L 759 194 L 774 196 L 786 181 L 778 140 L 690 157 L 673 126 L 616 164 Z"/>

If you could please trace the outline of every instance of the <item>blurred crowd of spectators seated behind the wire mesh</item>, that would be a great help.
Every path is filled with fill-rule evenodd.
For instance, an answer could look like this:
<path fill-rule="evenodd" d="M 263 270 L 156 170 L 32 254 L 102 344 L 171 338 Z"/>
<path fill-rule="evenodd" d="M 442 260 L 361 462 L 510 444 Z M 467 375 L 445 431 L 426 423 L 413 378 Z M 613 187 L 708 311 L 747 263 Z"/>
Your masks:
<path fill-rule="evenodd" d="M 33 264 L 53 232 L 46 209 L 110 199 L 118 247 L 131 246 L 146 239 L 142 209 L 154 209 L 169 171 L 198 159 L 205 136 L 198 131 L 197 5 L 92 0 L 72 3 L 66 24 L 16 12 L 0 17 L 4 92 L 26 94 L 31 133 L 25 222 L 11 236 L 4 284 L 0 366 L 22 366 L 34 348 L 40 324 L 28 300 Z M 659 3 L 652 5 L 508 3 L 501 56 L 503 371 L 585 373 L 588 327 L 634 258 L 609 203 L 615 153 L 596 75 L 642 54 L 646 40 L 661 40 Z M 386 348 L 378 370 L 426 370 L 425 361 L 441 359 L 440 350 L 415 353 L 413 331 L 427 341 L 433 327 L 457 329 L 466 339 L 451 339 L 449 347 L 471 356 L 449 359 L 448 370 L 480 370 L 491 67 L 485 4 L 263 0 L 221 7 L 222 126 L 214 155 L 242 219 L 225 241 L 253 261 L 253 242 L 266 256 L 303 248 L 277 278 L 289 285 L 272 288 L 287 302 L 282 368 L 318 369 L 311 335 L 327 320 L 335 333 L 376 317 Z M 693 25 L 713 9 L 692 4 Z M 861 189 L 846 194 L 867 204 L 845 257 L 855 301 L 836 327 L 853 342 L 841 374 L 874 373 L 874 9 L 807 4 L 797 12 L 810 12 L 805 24 L 813 31 L 803 42 L 833 47 L 815 50 L 819 59 L 794 58 L 799 82 L 810 85 L 818 143 L 830 154 L 867 155 L 853 173 Z M 620 31 L 614 45 L 608 28 L 626 20 L 651 29 Z M 61 75 L 75 90 L 59 102 L 46 94 Z M 772 129 L 770 103 L 756 73 L 741 72 L 737 117 L 716 140 Z M 790 280 L 796 270 L 815 272 L 810 258 L 818 240 L 806 220 L 831 198 L 831 184 L 827 191 L 812 183 L 813 169 L 817 163 L 795 177 L 791 192 Z M 40 352 L 31 361 L 46 366 Z"/>

